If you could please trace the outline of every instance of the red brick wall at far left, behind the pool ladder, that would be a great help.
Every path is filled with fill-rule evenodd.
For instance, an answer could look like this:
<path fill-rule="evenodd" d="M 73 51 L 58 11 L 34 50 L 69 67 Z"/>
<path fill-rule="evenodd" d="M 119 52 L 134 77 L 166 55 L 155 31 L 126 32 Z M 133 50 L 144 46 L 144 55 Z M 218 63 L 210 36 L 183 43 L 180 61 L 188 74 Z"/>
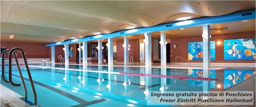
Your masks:
<path fill-rule="evenodd" d="M 19 42 L 19 41 L 1 41 L 1 47 L 12 49 L 20 48 L 25 51 L 27 58 L 50 58 L 51 49 L 46 47 L 44 43 L 35 42 Z M 18 58 L 22 58 L 21 54 L 17 52 Z M 6 55 L 7 58 L 8 55 Z"/>

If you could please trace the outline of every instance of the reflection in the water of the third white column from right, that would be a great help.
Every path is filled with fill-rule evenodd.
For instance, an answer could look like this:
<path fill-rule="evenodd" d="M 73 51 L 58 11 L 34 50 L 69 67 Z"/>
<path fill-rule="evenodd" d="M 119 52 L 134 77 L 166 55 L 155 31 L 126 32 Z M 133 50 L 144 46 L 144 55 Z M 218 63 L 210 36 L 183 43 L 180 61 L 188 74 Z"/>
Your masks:
<path fill-rule="evenodd" d="M 149 67 L 145 67 L 145 74 L 152 74 L 152 71 L 151 71 L 152 68 L 149 68 Z M 147 99 L 148 97 L 148 91 L 149 88 L 148 88 L 148 85 L 151 85 L 152 84 L 152 77 L 150 76 L 144 76 L 145 80 L 144 80 L 144 83 L 145 83 L 145 90 L 144 90 L 144 94 L 145 94 L 145 99 Z"/>

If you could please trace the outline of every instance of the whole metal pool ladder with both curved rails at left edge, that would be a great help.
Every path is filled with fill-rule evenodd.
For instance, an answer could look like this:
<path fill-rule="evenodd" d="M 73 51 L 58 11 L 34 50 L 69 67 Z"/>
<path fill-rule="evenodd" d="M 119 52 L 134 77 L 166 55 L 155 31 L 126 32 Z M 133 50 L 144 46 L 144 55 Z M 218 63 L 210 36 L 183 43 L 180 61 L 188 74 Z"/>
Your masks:
<path fill-rule="evenodd" d="M 35 101 L 34 104 L 37 105 L 37 96 L 36 96 L 35 86 L 34 86 L 33 79 L 32 79 L 31 74 L 30 74 L 30 70 L 29 70 L 26 54 L 25 54 L 25 52 L 22 49 L 13 48 L 11 50 L 7 49 L 7 50 L 3 51 L 3 53 L 2 53 L 2 58 L 3 58 L 2 59 L 2 65 L 5 65 L 5 60 L 4 60 L 5 54 L 7 52 L 9 52 L 9 57 L 8 57 L 9 58 L 9 81 L 5 80 L 5 66 L 2 66 L 2 78 L 3 78 L 3 81 L 7 82 L 7 83 L 10 83 L 14 87 L 19 87 L 20 86 L 20 84 L 13 83 L 13 81 L 12 81 L 12 55 L 13 55 L 14 58 L 15 58 L 15 61 L 16 61 L 16 65 L 17 65 L 17 69 L 18 69 L 18 72 L 19 72 L 20 80 L 22 80 L 22 84 L 23 84 L 23 88 L 24 88 L 24 93 L 25 93 L 25 101 L 27 101 L 27 99 L 28 99 L 27 87 L 26 87 L 26 84 L 24 82 L 22 71 L 20 70 L 20 67 L 19 67 L 17 54 L 15 53 L 16 51 L 19 51 L 20 53 L 22 53 L 22 56 L 23 56 L 23 59 L 24 59 L 24 63 L 25 63 L 25 66 L 26 66 L 26 69 L 27 69 L 27 72 L 28 72 L 29 81 L 30 81 L 30 84 L 31 84 L 31 87 L 32 87 L 32 91 L 33 91 L 33 94 L 34 94 L 34 101 Z"/>

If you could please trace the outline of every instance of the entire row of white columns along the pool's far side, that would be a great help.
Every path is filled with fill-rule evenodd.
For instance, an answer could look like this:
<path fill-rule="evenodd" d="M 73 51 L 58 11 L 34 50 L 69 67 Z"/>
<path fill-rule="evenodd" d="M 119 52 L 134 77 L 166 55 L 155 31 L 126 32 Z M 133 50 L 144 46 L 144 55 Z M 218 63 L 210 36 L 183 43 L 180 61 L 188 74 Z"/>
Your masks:
<path fill-rule="evenodd" d="M 145 67 L 152 66 L 152 37 L 151 33 L 144 33 L 144 43 L 145 43 Z M 210 68 L 210 26 L 203 26 L 203 68 Z M 161 66 L 166 66 L 166 34 L 160 34 L 161 42 Z M 83 41 L 83 66 L 88 64 L 87 57 L 87 41 Z M 79 43 L 79 49 L 81 44 Z M 98 41 L 98 64 L 102 64 L 102 41 Z M 108 66 L 113 66 L 113 38 L 108 38 Z M 129 62 L 129 38 L 124 38 L 124 65 Z M 51 47 L 52 62 L 55 62 L 55 48 Z M 65 44 L 65 50 L 69 50 L 69 45 Z M 185 50 L 184 50 L 185 51 Z M 79 59 L 81 58 L 79 51 Z M 80 63 L 80 60 L 79 60 Z M 65 51 L 65 65 L 69 65 L 69 52 Z"/>

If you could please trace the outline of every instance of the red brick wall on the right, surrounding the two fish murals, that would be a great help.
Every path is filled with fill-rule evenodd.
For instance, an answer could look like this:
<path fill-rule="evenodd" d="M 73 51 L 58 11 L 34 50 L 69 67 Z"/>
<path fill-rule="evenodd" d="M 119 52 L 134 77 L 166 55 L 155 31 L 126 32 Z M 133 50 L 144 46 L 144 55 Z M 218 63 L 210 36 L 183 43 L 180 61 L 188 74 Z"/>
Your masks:
<path fill-rule="evenodd" d="M 240 39 L 240 38 L 254 38 L 255 31 L 248 31 L 248 32 L 238 32 L 238 33 L 228 33 L 228 34 L 217 34 L 211 35 L 211 41 L 215 41 L 215 48 L 216 48 L 216 59 L 212 60 L 211 62 L 250 62 L 253 63 L 255 60 L 224 60 L 223 55 L 223 42 L 225 39 Z M 171 62 L 175 62 L 175 57 L 180 56 L 182 58 L 188 59 L 188 49 L 187 44 L 188 42 L 196 42 L 196 41 L 203 41 L 202 36 L 193 36 L 193 37 L 182 37 L 182 38 L 172 38 L 170 39 L 170 55 Z M 217 45 L 217 41 L 221 41 L 221 46 Z M 177 48 L 175 49 L 173 45 L 176 44 Z M 177 62 L 186 62 L 181 59 L 177 59 Z M 202 62 L 201 60 L 191 61 L 191 62 Z"/>

